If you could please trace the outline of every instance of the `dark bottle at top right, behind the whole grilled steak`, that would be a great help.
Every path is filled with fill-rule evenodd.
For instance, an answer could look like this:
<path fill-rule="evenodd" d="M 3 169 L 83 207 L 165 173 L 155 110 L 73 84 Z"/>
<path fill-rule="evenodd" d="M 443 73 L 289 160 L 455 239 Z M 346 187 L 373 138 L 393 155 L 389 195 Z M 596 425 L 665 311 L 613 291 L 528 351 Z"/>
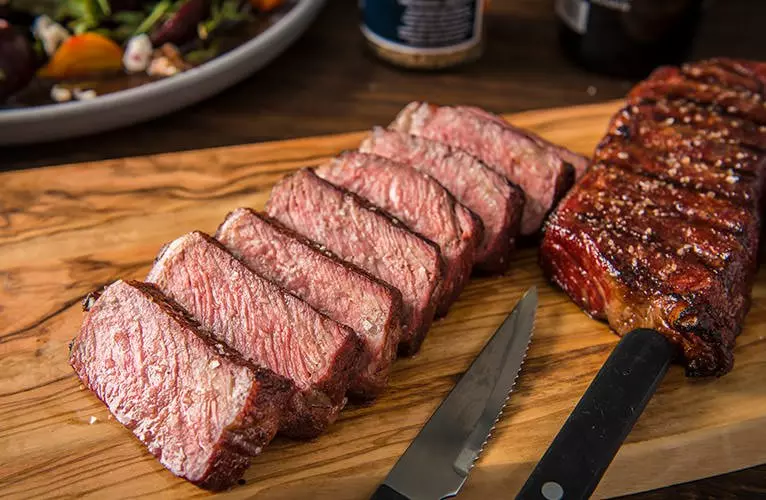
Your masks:
<path fill-rule="evenodd" d="M 559 40 L 591 71 L 642 78 L 689 55 L 703 0 L 556 0 Z"/>

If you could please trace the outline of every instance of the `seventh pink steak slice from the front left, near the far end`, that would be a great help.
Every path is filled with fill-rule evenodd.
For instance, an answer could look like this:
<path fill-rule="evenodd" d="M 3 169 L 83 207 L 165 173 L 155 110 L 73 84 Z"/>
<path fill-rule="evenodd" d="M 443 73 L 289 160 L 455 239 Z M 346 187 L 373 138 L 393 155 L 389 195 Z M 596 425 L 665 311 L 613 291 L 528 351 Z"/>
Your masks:
<path fill-rule="evenodd" d="M 526 194 L 521 233 L 534 234 L 572 185 L 574 167 L 502 118 L 476 108 L 408 104 L 390 126 L 400 132 L 443 142 L 476 156 Z"/>

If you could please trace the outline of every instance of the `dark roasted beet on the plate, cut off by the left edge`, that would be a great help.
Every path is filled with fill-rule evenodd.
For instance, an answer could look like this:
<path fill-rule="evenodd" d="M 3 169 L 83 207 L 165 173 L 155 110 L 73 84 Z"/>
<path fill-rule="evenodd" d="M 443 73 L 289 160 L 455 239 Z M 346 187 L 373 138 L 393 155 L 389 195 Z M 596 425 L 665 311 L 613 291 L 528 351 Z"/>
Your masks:
<path fill-rule="evenodd" d="M 29 83 L 35 66 L 35 52 L 29 40 L 0 19 L 0 102 Z"/>

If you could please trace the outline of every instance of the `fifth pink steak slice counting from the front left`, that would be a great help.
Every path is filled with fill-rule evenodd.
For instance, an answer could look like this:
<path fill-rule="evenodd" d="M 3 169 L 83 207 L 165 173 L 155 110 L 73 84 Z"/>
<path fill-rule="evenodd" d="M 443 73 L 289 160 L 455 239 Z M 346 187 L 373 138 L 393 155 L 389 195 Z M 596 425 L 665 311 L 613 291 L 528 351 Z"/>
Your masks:
<path fill-rule="evenodd" d="M 382 156 L 350 151 L 316 169 L 336 186 L 387 211 L 439 245 L 446 264 L 436 315 L 444 316 L 471 277 L 481 222 L 433 177 Z"/>

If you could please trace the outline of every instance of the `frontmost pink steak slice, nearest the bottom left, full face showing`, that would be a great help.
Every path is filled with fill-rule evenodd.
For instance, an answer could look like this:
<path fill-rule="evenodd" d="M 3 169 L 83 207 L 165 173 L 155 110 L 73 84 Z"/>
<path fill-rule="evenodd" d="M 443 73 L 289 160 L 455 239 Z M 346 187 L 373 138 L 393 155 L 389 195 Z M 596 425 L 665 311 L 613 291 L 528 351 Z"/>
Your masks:
<path fill-rule="evenodd" d="M 271 441 L 294 391 L 136 281 L 90 304 L 69 361 L 162 465 L 212 490 L 234 484 Z"/>

